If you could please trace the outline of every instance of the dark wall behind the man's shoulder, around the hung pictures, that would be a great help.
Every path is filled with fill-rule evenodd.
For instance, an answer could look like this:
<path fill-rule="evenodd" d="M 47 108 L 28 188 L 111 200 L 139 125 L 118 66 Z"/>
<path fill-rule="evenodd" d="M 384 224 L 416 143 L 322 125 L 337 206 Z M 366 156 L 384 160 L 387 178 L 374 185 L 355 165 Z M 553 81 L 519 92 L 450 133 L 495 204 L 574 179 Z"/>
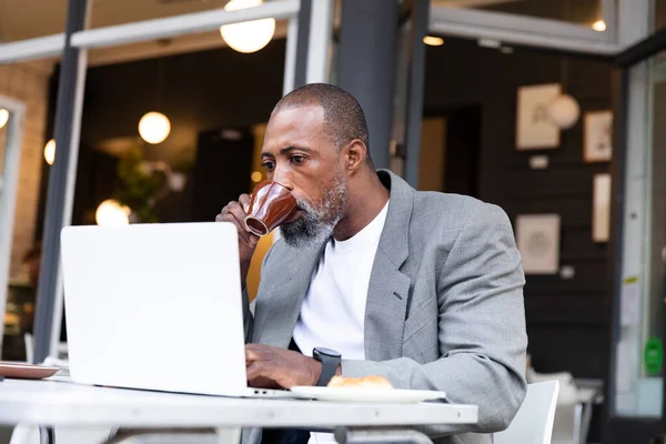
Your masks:
<path fill-rule="evenodd" d="M 583 161 L 583 114 L 612 108 L 612 68 L 589 59 L 516 49 L 512 54 L 472 41 L 447 39 L 427 49 L 424 107 L 481 105 L 481 161 L 476 195 L 501 205 L 515 222 L 518 214 L 562 215 L 561 265 L 575 278 L 528 275 L 525 307 L 529 353 L 538 372 L 571 371 L 577 377 L 605 377 L 609 327 L 606 244 L 592 241 L 592 192 L 595 173 L 607 163 Z M 562 132 L 558 149 L 515 149 L 516 95 L 522 85 L 567 80 L 581 105 L 581 119 Z M 455 132 L 455 127 L 448 127 Z M 546 170 L 532 170 L 528 159 L 547 154 Z"/>

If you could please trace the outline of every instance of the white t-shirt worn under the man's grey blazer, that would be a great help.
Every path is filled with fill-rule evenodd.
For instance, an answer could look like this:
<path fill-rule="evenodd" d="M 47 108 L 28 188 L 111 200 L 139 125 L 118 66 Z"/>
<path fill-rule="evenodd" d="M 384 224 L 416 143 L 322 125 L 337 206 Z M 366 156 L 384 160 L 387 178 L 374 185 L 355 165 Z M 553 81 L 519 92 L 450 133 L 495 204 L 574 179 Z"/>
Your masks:
<path fill-rule="evenodd" d="M 387 210 L 386 202 L 355 235 L 326 243 L 294 327 L 294 342 L 303 354 L 312 356 L 320 346 L 340 352 L 343 359 L 365 359 L 365 302 Z M 311 444 L 324 442 L 335 442 L 333 434 L 310 437 Z"/>

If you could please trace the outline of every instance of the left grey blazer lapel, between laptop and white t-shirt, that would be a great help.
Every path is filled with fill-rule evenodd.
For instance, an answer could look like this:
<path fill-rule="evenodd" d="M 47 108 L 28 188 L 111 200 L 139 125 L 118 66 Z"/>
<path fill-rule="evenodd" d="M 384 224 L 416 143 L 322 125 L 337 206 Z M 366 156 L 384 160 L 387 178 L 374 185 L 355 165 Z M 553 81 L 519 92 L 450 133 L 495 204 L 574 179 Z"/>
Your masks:
<path fill-rule="evenodd" d="M 303 299 L 323 250 L 319 248 L 299 250 L 285 258 L 285 273 L 256 301 L 252 342 L 286 349 L 301 313 Z"/>

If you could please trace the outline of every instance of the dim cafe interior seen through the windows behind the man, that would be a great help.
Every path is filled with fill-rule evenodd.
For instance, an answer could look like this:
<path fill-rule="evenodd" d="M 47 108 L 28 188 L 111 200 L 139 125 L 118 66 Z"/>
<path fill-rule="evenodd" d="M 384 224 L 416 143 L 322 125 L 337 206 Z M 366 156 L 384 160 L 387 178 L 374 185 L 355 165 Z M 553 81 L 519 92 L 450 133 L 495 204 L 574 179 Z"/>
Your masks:
<path fill-rule="evenodd" d="M 90 28 L 224 3 L 97 0 Z M 433 3 L 598 32 L 606 27 L 596 0 Z M 664 3 L 654 6 L 655 30 L 666 23 Z M 340 4 L 336 11 L 334 36 Z M 0 0 L 0 38 L 62 32 L 65 18 L 64 0 Z M 228 29 L 226 36 L 216 31 L 89 52 L 72 224 L 213 221 L 224 204 L 265 178 L 259 153 L 283 92 L 286 21 L 252 26 L 250 34 Z M 507 212 L 527 273 L 532 367 L 603 384 L 612 351 L 608 240 L 617 69 L 597 58 L 492 40 L 432 34 L 424 43 L 418 189 L 473 195 Z M 660 60 L 654 63 L 655 75 L 662 75 L 655 94 L 666 92 Z M 334 57 L 331 64 L 334 79 Z M 48 179 L 58 150 L 52 139 L 60 68 L 57 58 L 0 65 L 0 95 L 26 107 L 3 360 L 26 360 L 26 333 L 33 332 Z M 660 100 L 654 103 L 657 121 L 666 108 Z M 2 111 L 0 174 L 10 128 Z M 654 144 L 665 135 L 655 125 Z M 391 165 L 400 172 L 400 150 L 391 150 Z M 271 242 L 263 239 L 254 258 L 252 295 Z M 67 341 L 65 323 L 61 341 Z M 598 408 L 588 442 L 598 442 Z"/>

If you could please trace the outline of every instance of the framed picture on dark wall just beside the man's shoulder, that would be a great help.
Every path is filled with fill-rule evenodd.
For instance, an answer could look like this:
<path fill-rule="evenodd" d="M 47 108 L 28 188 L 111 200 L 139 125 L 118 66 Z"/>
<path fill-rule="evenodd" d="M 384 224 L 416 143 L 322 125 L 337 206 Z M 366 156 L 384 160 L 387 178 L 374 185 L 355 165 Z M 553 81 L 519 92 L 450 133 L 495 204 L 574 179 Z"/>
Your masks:
<path fill-rule="evenodd" d="M 521 214 L 516 218 L 516 242 L 525 274 L 559 271 L 559 214 Z"/>

